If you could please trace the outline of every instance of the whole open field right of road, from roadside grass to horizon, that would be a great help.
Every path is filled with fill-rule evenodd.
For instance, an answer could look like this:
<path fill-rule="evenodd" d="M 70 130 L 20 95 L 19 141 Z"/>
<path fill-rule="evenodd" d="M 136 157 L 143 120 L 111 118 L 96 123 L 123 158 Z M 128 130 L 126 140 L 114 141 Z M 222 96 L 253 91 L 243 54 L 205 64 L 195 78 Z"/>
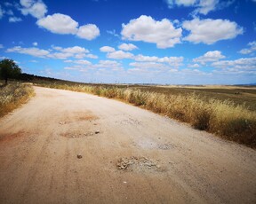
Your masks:
<path fill-rule="evenodd" d="M 116 98 L 164 114 L 231 141 L 256 146 L 256 88 L 39 83 L 40 86 Z"/>

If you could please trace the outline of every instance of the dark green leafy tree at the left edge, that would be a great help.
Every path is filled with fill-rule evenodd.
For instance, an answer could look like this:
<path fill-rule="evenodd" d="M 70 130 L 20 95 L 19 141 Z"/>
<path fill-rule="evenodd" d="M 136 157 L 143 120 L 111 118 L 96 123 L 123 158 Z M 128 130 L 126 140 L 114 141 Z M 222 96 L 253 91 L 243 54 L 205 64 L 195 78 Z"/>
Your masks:
<path fill-rule="evenodd" d="M 12 59 L 3 59 L 0 61 L 0 77 L 4 79 L 5 86 L 8 83 L 8 79 L 16 79 L 20 74 L 20 67 Z"/>

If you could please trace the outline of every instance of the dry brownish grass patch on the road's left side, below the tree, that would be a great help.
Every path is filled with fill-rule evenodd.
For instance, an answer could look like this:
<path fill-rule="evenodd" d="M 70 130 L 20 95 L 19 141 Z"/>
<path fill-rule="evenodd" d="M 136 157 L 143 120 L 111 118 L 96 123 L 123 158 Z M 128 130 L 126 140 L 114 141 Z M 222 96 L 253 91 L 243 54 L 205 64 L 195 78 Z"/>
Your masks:
<path fill-rule="evenodd" d="M 0 117 L 26 103 L 34 94 L 29 84 L 8 84 L 0 87 Z"/>

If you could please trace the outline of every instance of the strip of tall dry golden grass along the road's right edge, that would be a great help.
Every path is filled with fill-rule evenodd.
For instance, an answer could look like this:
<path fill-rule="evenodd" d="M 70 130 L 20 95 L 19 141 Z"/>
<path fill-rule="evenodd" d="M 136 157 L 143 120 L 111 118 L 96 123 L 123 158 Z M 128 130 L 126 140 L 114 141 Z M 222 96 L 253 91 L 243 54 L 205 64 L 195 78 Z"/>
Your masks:
<path fill-rule="evenodd" d="M 188 122 L 195 129 L 206 130 L 228 140 L 256 147 L 256 113 L 230 100 L 205 99 L 193 92 L 166 94 L 116 86 L 53 83 L 46 86 L 121 99 L 157 114 L 168 115 L 180 122 Z"/>

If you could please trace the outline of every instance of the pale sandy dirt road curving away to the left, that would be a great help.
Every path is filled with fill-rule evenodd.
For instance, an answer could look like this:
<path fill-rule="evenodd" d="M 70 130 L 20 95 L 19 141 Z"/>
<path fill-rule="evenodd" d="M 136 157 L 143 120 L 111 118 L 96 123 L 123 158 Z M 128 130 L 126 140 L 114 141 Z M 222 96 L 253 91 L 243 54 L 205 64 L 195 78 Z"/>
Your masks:
<path fill-rule="evenodd" d="M 35 89 L 0 120 L 0 203 L 256 203 L 256 151 L 115 100 Z"/>

